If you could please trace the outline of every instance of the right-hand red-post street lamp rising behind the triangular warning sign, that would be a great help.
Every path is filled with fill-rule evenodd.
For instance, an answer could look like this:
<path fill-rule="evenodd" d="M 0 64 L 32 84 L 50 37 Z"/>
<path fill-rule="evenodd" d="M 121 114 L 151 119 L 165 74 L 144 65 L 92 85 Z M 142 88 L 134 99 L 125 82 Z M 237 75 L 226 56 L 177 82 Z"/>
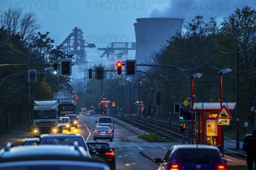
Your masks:
<path fill-rule="evenodd" d="M 221 70 L 218 72 L 220 75 L 220 84 L 221 84 L 221 108 L 222 108 L 222 102 L 223 102 L 223 97 L 222 97 L 222 75 L 227 74 L 232 72 L 230 68 Z M 220 109 L 221 109 L 220 108 Z M 218 125 L 218 132 L 221 133 L 221 135 L 218 135 L 218 143 L 221 144 L 221 153 L 224 155 L 224 128 L 222 125 Z"/>

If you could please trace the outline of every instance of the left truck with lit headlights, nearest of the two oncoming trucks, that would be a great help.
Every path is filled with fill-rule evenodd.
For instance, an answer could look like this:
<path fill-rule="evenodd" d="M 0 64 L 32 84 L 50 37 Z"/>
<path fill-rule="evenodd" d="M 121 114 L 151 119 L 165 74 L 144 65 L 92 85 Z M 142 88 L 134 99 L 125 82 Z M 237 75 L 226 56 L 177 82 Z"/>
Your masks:
<path fill-rule="evenodd" d="M 41 134 L 58 133 L 57 100 L 34 101 L 32 113 L 34 137 Z"/>

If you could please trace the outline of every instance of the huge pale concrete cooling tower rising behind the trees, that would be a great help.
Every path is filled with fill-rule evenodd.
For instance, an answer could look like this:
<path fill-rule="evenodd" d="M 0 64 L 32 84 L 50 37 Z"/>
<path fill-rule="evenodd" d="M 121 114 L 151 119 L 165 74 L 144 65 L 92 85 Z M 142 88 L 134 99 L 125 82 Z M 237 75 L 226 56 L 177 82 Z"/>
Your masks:
<path fill-rule="evenodd" d="M 137 18 L 134 23 L 136 35 L 137 64 L 144 62 L 152 51 L 158 51 L 166 45 L 166 40 L 181 32 L 184 18 Z"/>

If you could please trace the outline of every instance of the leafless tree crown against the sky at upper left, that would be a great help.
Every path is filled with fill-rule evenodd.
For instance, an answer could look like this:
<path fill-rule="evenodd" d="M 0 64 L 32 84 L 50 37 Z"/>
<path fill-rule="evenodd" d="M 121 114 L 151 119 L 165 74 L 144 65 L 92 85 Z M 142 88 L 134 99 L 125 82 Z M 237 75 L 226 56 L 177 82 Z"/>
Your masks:
<path fill-rule="evenodd" d="M 27 42 L 41 28 L 41 23 L 35 16 L 32 11 L 22 14 L 21 9 L 9 8 L 3 11 L 0 26 L 6 29 L 9 35 L 18 34 L 23 42 Z"/>

